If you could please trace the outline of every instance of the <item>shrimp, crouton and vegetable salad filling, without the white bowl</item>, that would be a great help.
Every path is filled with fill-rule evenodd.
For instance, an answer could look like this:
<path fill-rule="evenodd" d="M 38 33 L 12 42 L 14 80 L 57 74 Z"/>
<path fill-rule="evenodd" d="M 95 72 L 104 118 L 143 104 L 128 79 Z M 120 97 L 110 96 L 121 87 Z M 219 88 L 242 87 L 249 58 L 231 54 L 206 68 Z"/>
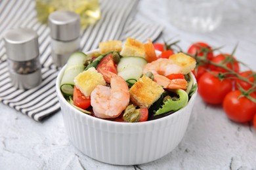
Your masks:
<path fill-rule="evenodd" d="M 155 120 L 185 107 L 196 90 L 194 58 L 158 58 L 150 40 L 100 42 L 89 55 L 70 56 L 60 90 L 76 109 L 116 122 Z"/>

